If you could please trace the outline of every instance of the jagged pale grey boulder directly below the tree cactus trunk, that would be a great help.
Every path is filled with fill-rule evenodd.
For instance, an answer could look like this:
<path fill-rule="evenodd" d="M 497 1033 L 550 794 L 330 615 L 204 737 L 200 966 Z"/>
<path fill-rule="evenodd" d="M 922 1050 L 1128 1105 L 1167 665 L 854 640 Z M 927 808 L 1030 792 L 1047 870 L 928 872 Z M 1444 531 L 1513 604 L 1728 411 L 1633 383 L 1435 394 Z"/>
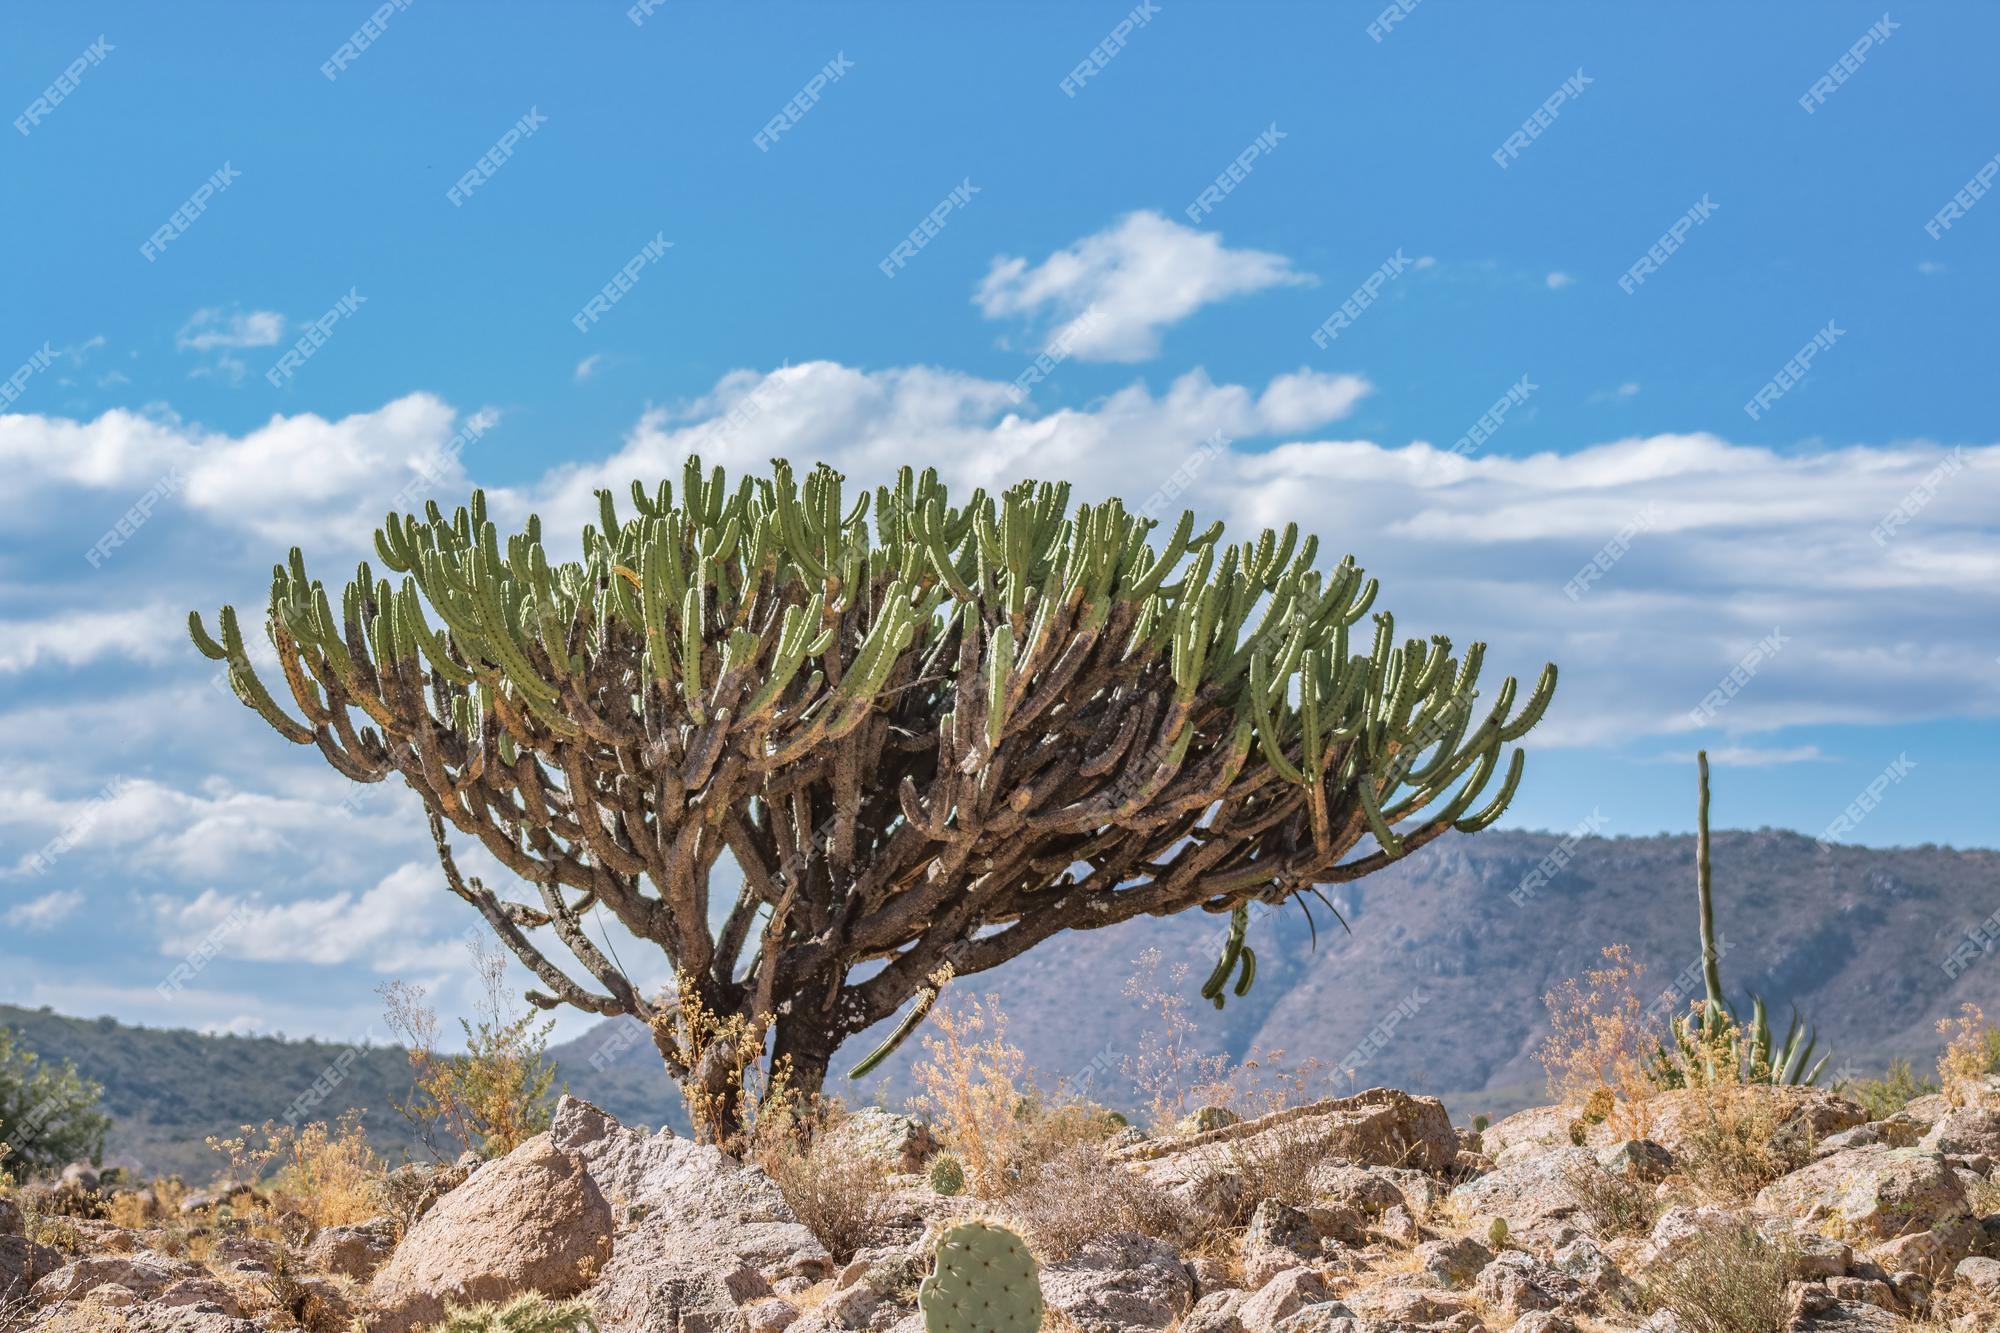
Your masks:
<path fill-rule="evenodd" d="M 576 1097 L 556 1103 L 548 1135 L 558 1149 L 576 1153 L 620 1225 L 636 1229 L 618 1245 L 620 1263 L 684 1253 L 718 1273 L 752 1267 L 770 1281 L 818 1281 L 834 1271 L 834 1257 L 772 1179 L 722 1149 L 670 1131 L 626 1129 Z"/>

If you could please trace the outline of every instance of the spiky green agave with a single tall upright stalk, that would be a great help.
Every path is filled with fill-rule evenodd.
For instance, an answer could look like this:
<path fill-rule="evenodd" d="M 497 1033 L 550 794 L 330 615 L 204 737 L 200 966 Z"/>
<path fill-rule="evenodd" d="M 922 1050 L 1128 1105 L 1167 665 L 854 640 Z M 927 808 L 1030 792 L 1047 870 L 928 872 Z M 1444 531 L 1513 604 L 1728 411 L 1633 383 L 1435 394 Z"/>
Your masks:
<path fill-rule="evenodd" d="M 1700 1071 L 1702 1083 L 1812 1085 L 1820 1081 L 1830 1055 L 1812 1061 L 1818 1035 L 1798 1013 L 1778 1041 L 1764 1009 L 1764 997 L 1750 997 L 1750 1023 L 1738 1023 L 1722 995 L 1722 953 L 1716 949 L 1716 901 L 1708 861 L 1708 751 L 1694 757 L 1700 787 L 1694 813 L 1694 889 L 1702 909 L 1702 989 L 1704 997 L 1688 1013 L 1668 1021 L 1670 1043 L 1660 1043 L 1650 1075 L 1660 1087 L 1686 1087 Z"/>

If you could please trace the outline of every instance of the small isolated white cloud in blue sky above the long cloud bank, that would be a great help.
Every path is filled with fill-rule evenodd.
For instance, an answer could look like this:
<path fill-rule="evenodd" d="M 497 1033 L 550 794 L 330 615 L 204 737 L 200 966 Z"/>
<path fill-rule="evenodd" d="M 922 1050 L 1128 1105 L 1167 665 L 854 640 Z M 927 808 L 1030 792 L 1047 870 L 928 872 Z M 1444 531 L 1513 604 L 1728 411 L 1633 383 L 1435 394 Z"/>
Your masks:
<path fill-rule="evenodd" d="M 986 318 L 1028 316 L 1050 324 L 1092 310 L 1094 318 L 1072 342 L 1074 356 L 1146 360 L 1158 354 L 1162 330 L 1202 306 L 1310 282 L 1282 254 L 1228 250 L 1214 232 L 1134 212 L 1040 264 L 996 258 L 974 300 Z"/>

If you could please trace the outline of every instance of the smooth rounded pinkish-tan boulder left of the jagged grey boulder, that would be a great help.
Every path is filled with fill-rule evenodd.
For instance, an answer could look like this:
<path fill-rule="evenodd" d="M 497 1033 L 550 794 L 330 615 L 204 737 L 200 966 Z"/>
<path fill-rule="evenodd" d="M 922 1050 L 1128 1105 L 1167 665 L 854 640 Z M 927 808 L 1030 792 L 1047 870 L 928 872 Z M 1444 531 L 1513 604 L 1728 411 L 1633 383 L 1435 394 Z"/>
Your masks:
<path fill-rule="evenodd" d="M 446 1301 L 572 1297 L 612 1257 L 612 1209 L 582 1157 L 536 1135 L 432 1205 L 376 1273 L 372 1333 L 410 1333 Z"/>

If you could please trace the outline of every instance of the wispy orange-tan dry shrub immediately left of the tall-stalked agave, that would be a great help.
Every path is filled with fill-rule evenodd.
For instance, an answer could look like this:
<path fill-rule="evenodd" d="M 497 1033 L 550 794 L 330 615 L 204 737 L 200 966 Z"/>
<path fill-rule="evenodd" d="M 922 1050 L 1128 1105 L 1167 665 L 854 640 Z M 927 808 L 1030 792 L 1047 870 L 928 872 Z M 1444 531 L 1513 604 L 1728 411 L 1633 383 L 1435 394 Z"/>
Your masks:
<path fill-rule="evenodd" d="M 1638 999 L 1644 975 L 1626 945 L 1608 945 L 1602 967 L 1542 997 L 1552 1031 L 1536 1061 L 1550 1095 L 1586 1125 L 1610 1121 L 1622 1139 L 1646 1137 L 1646 1099 L 1658 1091 L 1646 1061 L 1662 1047 L 1662 1025 Z"/>

